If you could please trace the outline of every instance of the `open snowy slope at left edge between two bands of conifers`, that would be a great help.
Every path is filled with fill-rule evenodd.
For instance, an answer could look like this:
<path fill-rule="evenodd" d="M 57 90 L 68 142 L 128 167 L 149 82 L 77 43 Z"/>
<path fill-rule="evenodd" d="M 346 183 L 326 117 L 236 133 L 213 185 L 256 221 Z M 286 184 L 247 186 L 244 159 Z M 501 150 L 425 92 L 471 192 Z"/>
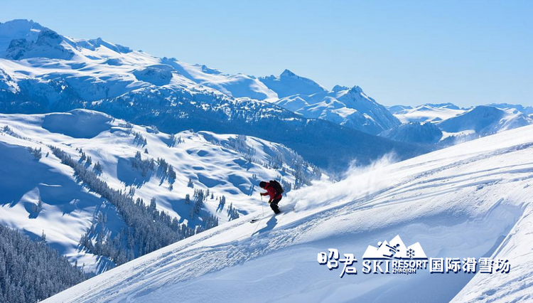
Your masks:
<path fill-rule="evenodd" d="M 51 156 L 36 161 L 18 139 L 0 136 L 0 223 L 23 231 L 36 239 L 45 233 L 48 243 L 71 262 L 85 264 L 87 272 L 102 272 L 109 263 L 92 254 L 80 253 L 82 233 L 90 228 L 95 212 L 112 222 L 108 232 L 116 235 L 124 226 L 115 209 L 99 196 L 87 192 L 72 176 L 70 167 L 61 166 Z M 24 146 L 39 144 L 25 142 Z M 45 149 L 46 152 L 46 149 Z M 43 208 L 38 211 L 38 203 Z"/>

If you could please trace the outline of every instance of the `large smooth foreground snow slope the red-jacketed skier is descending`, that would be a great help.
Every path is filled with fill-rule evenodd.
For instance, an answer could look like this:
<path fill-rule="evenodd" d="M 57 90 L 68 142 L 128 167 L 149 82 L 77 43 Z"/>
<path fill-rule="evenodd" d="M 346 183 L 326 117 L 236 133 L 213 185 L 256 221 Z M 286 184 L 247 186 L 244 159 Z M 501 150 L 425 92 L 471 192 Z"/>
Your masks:
<path fill-rule="evenodd" d="M 533 127 L 293 191 L 279 216 L 195 235 L 45 302 L 527 302 L 532 300 Z M 295 211 L 292 211 L 292 209 Z M 400 235 L 428 257 L 508 259 L 509 274 L 364 275 L 368 245 Z M 353 253 L 357 275 L 317 262 Z M 342 267 L 342 265 L 341 265 Z"/>

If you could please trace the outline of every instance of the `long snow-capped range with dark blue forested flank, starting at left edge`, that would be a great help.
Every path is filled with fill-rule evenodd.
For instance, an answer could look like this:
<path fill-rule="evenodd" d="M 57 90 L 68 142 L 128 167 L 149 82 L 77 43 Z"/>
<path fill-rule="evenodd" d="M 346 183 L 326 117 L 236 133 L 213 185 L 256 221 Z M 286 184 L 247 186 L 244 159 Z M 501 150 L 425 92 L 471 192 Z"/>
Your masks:
<path fill-rule="evenodd" d="M 323 106 L 324 117 L 335 120 L 328 122 L 307 119 L 271 103 L 279 95 L 293 93 L 292 89 L 323 91 L 289 71 L 279 78 L 227 75 L 101 38 L 61 36 L 33 21 L 0 23 L 0 112 L 86 108 L 135 124 L 156 125 L 167 133 L 197 129 L 245 134 L 284 144 L 331 171 L 343 171 L 354 160 L 367 164 L 391 151 L 400 159 L 426 151 L 358 132 L 377 133 L 397 124 L 392 116 L 375 116 L 383 114 L 382 107 L 362 92 L 323 92 L 327 98 L 328 94 L 344 96 L 331 106 L 329 101 L 301 95 L 316 107 L 309 113 Z M 359 122 L 360 127 L 355 125 Z"/>

